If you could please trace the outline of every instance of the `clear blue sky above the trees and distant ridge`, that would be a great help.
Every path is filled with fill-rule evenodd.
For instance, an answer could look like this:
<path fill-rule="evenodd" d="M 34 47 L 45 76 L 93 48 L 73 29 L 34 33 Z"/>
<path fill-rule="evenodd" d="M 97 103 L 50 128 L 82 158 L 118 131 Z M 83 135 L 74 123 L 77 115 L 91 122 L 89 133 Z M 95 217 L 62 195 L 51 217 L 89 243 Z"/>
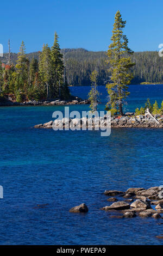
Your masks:
<path fill-rule="evenodd" d="M 114 16 L 119 9 L 127 21 L 124 32 L 134 51 L 158 50 L 163 43 L 163 8 L 158 0 L 28 0 L 1 1 L 0 44 L 18 52 L 22 40 L 26 51 L 53 44 L 54 31 L 61 48 L 105 51 L 110 44 Z"/>

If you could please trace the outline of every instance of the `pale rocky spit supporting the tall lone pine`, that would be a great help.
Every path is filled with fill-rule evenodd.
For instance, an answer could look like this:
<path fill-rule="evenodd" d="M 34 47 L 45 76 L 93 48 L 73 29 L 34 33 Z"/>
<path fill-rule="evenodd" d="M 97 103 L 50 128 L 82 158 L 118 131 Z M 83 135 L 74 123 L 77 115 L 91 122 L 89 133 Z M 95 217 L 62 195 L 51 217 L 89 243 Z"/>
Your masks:
<path fill-rule="evenodd" d="M 63 118 L 63 119 L 56 119 L 51 120 L 45 124 L 38 124 L 35 125 L 34 128 L 44 128 L 44 129 L 51 129 L 53 127 L 58 127 L 65 129 L 67 128 L 67 125 L 69 126 L 75 126 L 77 129 L 82 129 L 82 125 L 85 124 L 86 128 L 89 127 L 89 124 L 92 122 L 92 129 L 98 128 L 107 128 L 111 127 L 114 128 L 124 128 L 124 127 L 142 127 L 142 128 L 162 128 L 163 127 L 163 116 L 162 115 L 155 115 L 150 116 L 149 114 L 146 115 L 135 115 L 135 113 L 126 113 L 123 116 L 114 116 L 111 117 L 110 123 L 108 123 L 108 120 L 106 116 L 99 117 L 98 123 L 95 122 L 95 118 Z"/>

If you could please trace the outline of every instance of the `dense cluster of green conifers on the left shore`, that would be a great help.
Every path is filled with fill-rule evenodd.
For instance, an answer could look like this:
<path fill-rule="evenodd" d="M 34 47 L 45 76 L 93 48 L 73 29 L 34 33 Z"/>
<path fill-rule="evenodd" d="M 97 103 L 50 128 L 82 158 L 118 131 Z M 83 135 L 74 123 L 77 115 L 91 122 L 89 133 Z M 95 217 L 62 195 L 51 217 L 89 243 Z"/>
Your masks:
<path fill-rule="evenodd" d="M 60 97 L 69 99 L 64 56 L 55 33 L 54 44 L 43 45 L 39 53 L 26 54 L 22 41 L 18 54 L 9 53 L 0 62 L 0 96 L 17 102 Z"/>

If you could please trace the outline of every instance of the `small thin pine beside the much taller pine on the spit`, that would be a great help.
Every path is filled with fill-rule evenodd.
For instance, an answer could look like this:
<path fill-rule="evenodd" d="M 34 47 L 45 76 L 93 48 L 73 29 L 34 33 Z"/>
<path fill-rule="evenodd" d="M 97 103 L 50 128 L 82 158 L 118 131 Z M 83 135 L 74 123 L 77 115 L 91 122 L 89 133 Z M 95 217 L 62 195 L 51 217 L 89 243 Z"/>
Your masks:
<path fill-rule="evenodd" d="M 88 94 L 89 100 L 90 100 L 90 108 L 91 112 L 97 111 L 97 105 L 98 105 L 98 97 L 99 97 L 99 92 L 97 90 L 97 71 L 94 70 L 92 74 L 90 75 L 90 80 L 92 82 L 92 87 L 91 90 Z"/>

